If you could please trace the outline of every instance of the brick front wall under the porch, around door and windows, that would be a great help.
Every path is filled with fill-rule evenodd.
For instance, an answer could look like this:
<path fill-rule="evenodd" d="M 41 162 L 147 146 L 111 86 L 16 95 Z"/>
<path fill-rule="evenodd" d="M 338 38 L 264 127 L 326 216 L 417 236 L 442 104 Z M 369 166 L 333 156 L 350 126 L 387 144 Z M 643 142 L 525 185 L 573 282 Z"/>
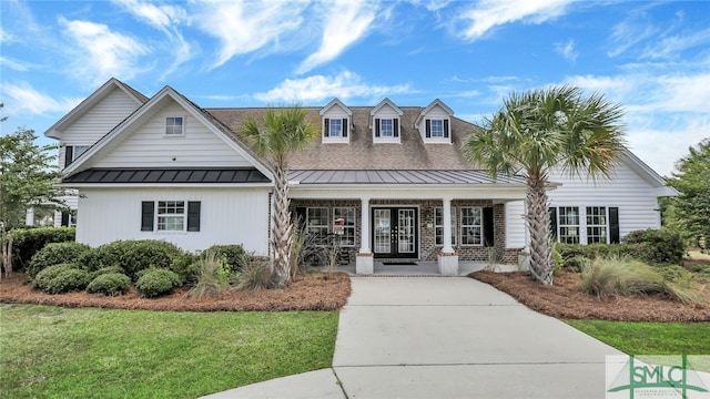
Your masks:
<path fill-rule="evenodd" d="M 355 259 L 356 254 L 361 248 L 361 226 L 359 221 L 361 211 L 359 200 L 292 200 L 292 214 L 296 215 L 297 208 L 307 207 L 353 207 L 355 208 L 355 245 L 347 247 L 351 255 L 351 259 Z M 436 228 L 435 228 L 435 208 L 442 207 L 440 200 L 371 200 L 369 206 L 378 207 L 383 205 L 389 206 L 412 206 L 418 208 L 418 260 L 436 262 L 437 255 L 442 246 L 435 245 L 436 242 Z M 494 219 L 494 245 L 486 247 L 484 245 L 462 245 L 460 244 L 460 211 L 463 206 L 479 206 L 481 208 L 493 208 Z M 454 245 L 454 250 L 458 254 L 459 260 L 476 260 L 476 262 L 489 262 L 490 257 L 495 257 L 496 263 L 503 264 L 517 264 L 518 254 L 520 248 L 506 248 L 506 225 L 505 225 L 505 206 L 504 204 L 494 204 L 490 200 L 454 200 L 452 201 L 452 207 L 456 207 L 456 219 L 452 221 L 452 224 L 456 226 L 457 239 Z M 331 223 L 332 223 L 331 211 Z M 372 226 L 372 224 L 371 224 Z M 489 226 L 484 226 L 484 229 Z M 485 232 L 484 232 L 485 236 Z M 371 232 L 372 237 L 372 232 Z M 371 245 L 372 247 L 372 245 Z"/>

